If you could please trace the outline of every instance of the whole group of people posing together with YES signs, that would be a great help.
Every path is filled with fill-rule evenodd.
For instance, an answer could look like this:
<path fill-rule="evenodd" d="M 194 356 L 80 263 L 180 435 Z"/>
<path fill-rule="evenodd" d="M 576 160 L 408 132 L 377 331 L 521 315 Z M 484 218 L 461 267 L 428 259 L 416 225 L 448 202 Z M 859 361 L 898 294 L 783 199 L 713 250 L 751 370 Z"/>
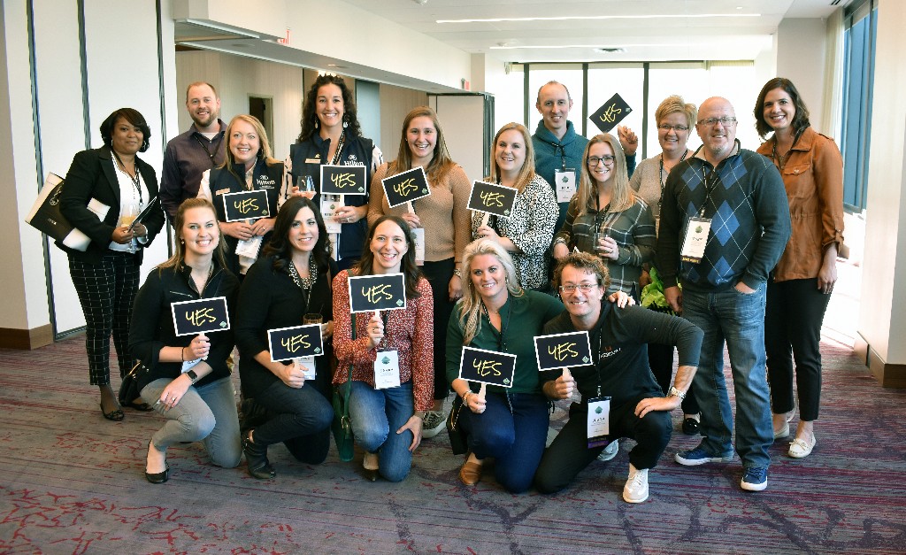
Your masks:
<path fill-rule="evenodd" d="M 101 124 L 104 146 L 75 156 L 61 208 L 92 239 L 84 251 L 66 250 L 101 413 L 124 417 L 111 389 L 112 334 L 120 376 L 138 370 L 140 397 L 124 404 L 166 419 L 148 444 L 148 481 L 169 479 L 167 449 L 182 442 L 204 442 L 226 468 L 245 455 L 258 479 L 275 477 L 267 456 L 275 443 L 322 463 L 338 388 L 371 480 L 403 480 L 422 439 L 449 420 L 467 438 L 459 479 L 474 485 L 493 459 L 510 492 L 533 484 L 559 491 L 632 438 L 622 496 L 641 502 L 674 409 L 682 408 L 684 432 L 702 435 L 677 463 L 732 459 L 725 344 L 742 488 L 766 487 L 767 448 L 789 435 L 795 413 L 794 375 L 800 420 L 788 453 L 811 453 L 820 327 L 843 241 L 834 141 L 812 130 L 805 103 L 782 78 L 758 95 L 757 131 L 773 134 L 757 152 L 741 148 L 733 106 L 719 97 L 698 109 L 679 96 L 661 102 L 661 152 L 637 168 L 631 130 L 587 140 L 568 119 L 571 107 L 563 84 L 546 83 L 534 135 L 518 123 L 496 132 L 485 180 L 517 193 L 508 218 L 489 219 L 469 213 L 470 181 L 450 159 L 435 112 L 412 110 L 396 159 L 384 162 L 361 136 L 352 91 L 337 76 L 313 83 L 283 162 L 261 122 L 221 121 L 214 87 L 192 83 L 193 124 L 169 141 L 160 187 L 137 157 L 148 148 L 148 124 L 135 110 L 113 112 Z M 693 126 L 703 142 L 697 151 L 687 146 Z M 322 194 L 322 164 L 365 166 L 370 188 Z M 414 168 L 424 170 L 429 196 L 391 208 L 381 180 Z M 227 221 L 223 196 L 246 190 L 265 191 L 267 216 Z M 133 223 L 155 196 L 163 209 Z M 108 208 L 100 216 L 98 205 Z M 165 211 L 174 254 L 139 287 L 142 249 Z M 423 262 L 415 229 L 423 230 Z M 350 278 L 383 274 L 403 275 L 405 307 L 353 314 Z M 632 306 L 643 287 L 660 287 L 666 308 Z M 230 329 L 178 336 L 171 304 L 211 297 L 226 298 Z M 267 331 L 303 323 L 321 325 L 323 355 L 274 362 Z M 574 331 L 588 333 L 592 363 L 539 372 L 533 337 Z M 459 378 L 464 346 L 516 355 L 510 386 L 479 390 Z M 399 385 L 378 383 L 381 364 Z M 545 448 L 551 402 L 575 393 L 580 400 Z M 588 424 L 602 411 L 603 438 Z"/>

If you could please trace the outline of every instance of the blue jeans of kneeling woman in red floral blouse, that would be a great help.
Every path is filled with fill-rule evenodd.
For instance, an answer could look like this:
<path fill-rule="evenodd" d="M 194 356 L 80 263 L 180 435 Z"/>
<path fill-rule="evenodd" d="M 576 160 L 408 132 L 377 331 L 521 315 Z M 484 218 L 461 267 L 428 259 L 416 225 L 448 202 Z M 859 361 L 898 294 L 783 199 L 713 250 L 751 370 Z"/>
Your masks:
<path fill-rule="evenodd" d="M 401 482 L 412 466 L 409 447 L 415 439 L 409 430 L 396 433 L 415 412 L 412 382 L 391 389 L 374 389 L 352 381 L 349 415 L 355 443 L 368 453 L 379 454 L 378 472 L 385 480 Z"/>

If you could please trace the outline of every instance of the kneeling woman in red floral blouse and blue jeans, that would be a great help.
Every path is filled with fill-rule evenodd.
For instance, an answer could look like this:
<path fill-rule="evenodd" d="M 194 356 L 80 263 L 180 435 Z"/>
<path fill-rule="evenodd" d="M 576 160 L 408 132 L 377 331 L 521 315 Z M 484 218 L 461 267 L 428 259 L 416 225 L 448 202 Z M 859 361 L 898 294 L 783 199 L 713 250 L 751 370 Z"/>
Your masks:
<path fill-rule="evenodd" d="M 352 365 L 352 383 L 345 386 L 352 387 L 349 412 L 355 442 L 365 450 L 362 466 L 371 481 L 380 473 L 390 482 L 400 482 L 409 474 L 425 412 L 434 404 L 431 287 L 415 264 L 415 245 L 403 219 L 377 219 L 368 230 L 366 245 L 359 262 L 333 279 L 333 348 L 339 361 L 333 383 L 346 384 Z M 405 276 L 405 309 L 351 315 L 351 274 L 394 273 Z M 375 363 L 386 365 L 387 360 L 398 369 L 400 385 L 392 386 L 391 379 L 389 385 L 376 386 Z"/>

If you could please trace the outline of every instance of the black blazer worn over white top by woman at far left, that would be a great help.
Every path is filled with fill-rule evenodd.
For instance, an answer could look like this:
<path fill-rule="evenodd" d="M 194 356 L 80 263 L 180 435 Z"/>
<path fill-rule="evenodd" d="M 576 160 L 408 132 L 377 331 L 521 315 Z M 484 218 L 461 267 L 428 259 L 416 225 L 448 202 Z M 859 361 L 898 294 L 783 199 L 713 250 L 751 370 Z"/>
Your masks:
<path fill-rule="evenodd" d="M 135 158 L 135 165 L 148 188 L 150 198 L 157 197 L 158 177 L 154 169 L 138 156 Z M 97 215 L 87 208 L 92 199 L 111 207 L 103 221 L 98 220 Z M 63 248 L 70 258 L 92 264 L 101 262 L 101 258 L 110 250 L 113 231 L 120 219 L 120 181 L 117 180 L 110 147 L 81 151 L 75 155 L 72 166 L 66 173 L 63 194 L 60 195 L 60 211 L 73 227 L 80 229 L 92 242 L 84 252 L 66 248 L 60 242 L 57 242 L 57 246 Z M 164 225 L 164 212 L 159 203 L 143 223 L 148 229 L 146 245 L 149 245 Z M 138 244 L 140 248 L 136 256 L 141 264 L 143 249 L 140 241 Z"/>

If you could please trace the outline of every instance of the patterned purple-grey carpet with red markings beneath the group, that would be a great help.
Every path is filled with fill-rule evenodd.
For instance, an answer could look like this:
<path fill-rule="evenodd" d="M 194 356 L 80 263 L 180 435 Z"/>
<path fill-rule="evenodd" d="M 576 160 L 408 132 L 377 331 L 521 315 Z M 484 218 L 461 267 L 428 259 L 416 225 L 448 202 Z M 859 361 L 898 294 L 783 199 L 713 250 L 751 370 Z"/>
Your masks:
<path fill-rule="evenodd" d="M 631 505 L 630 442 L 565 492 L 510 495 L 489 477 L 461 485 L 446 433 L 400 484 L 364 481 L 361 454 L 311 466 L 282 446 L 277 478 L 261 482 L 245 463 L 211 466 L 196 443 L 170 449 L 171 479 L 152 485 L 142 472 L 159 417 L 105 421 L 82 341 L 0 350 L 0 553 L 906 552 L 906 391 L 883 390 L 836 346 L 823 347 L 819 443 L 800 461 L 777 443 L 765 492 L 739 489 L 738 460 L 673 463 L 698 442 L 675 433 L 651 498 Z"/>

